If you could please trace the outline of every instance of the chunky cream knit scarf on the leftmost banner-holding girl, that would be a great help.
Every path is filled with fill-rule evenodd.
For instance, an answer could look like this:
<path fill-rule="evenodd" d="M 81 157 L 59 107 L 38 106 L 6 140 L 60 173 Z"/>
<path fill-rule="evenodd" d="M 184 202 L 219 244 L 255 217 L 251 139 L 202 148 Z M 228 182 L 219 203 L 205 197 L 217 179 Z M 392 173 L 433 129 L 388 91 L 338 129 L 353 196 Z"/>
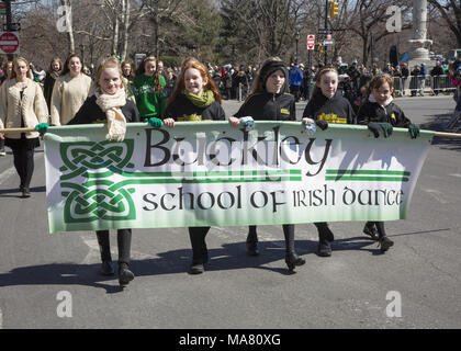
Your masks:
<path fill-rule="evenodd" d="M 101 88 L 94 91 L 97 97 L 97 104 L 105 113 L 108 120 L 108 135 L 109 140 L 123 141 L 126 133 L 126 118 L 122 113 L 122 106 L 126 103 L 125 89 L 119 89 L 113 94 L 103 93 Z"/>

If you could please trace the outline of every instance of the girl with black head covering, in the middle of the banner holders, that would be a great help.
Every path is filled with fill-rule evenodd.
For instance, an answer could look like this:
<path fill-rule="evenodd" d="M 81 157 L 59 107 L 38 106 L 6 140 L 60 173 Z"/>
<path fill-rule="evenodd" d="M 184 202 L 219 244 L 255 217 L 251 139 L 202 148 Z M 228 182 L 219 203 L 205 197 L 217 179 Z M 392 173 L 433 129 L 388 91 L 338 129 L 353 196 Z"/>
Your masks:
<path fill-rule="evenodd" d="M 237 126 L 239 118 L 251 116 L 255 121 L 296 121 L 294 97 L 288 93 L 289 73 L 285 64 L 279 57 L 268 58 L 256 76 L 251 94 L 229 122 Z M 282 226 L 285 238 L 285 263 L 290 271 L 302 265 L 305 260 L 294 249 L 294 225 Z M 258 256 L 257 226 L 249 226 L 247 236 L 247 253 Z"/>

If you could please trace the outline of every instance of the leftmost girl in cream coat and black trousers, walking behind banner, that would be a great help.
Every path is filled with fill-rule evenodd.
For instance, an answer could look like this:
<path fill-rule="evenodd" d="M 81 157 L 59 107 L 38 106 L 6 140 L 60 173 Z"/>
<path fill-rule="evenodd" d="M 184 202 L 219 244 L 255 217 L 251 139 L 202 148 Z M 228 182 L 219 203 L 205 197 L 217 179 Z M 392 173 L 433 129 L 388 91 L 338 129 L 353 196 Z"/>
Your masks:
<path fill-rule="evenodd" d="M 47 128 L 48 109 L 42 87 L 33 81 L 29 63 L 23 57 L 13 61 L 11 79 L 0 89 L 0 129 Z M 41 129 L 41 133 L 43 131 Z M 34 149 L 40 146 L 37 132 L 7 132 L 0 134 L 13 151 L 14 168 L 20 177 L 20 192 L 31 196 L 31 180 L 34 172 Z"/>

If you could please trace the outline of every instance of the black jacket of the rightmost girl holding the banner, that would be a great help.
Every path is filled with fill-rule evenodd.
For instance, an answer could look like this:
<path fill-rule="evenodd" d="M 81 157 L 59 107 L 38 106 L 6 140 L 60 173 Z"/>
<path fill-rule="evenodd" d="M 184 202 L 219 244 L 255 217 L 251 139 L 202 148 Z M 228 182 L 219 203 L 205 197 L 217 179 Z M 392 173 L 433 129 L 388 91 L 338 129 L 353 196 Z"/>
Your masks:
<path fill-rule="evenodd" d="M 391 123 L 394 127 L 406 128 L 412 123 L 405 113 L 395 103 L 391 102 L 387 106 L 381 106 L 378 102 L 367 102 L 360 107 L 358 113 L 359 124 L 370 122 Z"/>

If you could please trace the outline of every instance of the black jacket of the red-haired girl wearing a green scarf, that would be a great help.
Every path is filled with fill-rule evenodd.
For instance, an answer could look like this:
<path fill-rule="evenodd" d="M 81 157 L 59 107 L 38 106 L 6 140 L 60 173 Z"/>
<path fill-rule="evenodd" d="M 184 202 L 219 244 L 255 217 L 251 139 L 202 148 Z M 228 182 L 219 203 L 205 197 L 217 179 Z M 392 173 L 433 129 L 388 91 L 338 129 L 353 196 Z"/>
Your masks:
<path fill-rule="evenodd" d="M 224 121 L 226 115 L 221 104 L 216 101 L 202 109 L 195 106 L 184 94 L 179 94 L 168 104 L 165 111 L 165 118 L 173 118 L 179 122 Z"/>

